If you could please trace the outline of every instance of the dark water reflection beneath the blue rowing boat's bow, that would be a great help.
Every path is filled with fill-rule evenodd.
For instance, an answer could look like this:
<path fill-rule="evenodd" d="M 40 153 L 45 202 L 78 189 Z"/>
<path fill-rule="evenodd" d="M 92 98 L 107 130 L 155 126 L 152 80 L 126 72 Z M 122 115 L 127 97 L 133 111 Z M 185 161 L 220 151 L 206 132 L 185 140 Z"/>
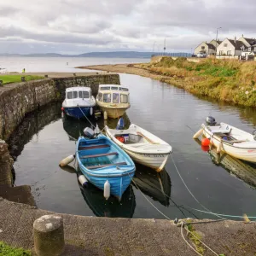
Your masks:
<path fill-rule="evenodd" d="M 88 183 L 85 188 L 79 186 L 88 207 L 97 217 L 132 218 L 136 200 L 131 185 L 125 190 L 120 202 L 113 196 L 110 196 L 107 201 L 102 189 L 96 188 L 91 183 Z"/>

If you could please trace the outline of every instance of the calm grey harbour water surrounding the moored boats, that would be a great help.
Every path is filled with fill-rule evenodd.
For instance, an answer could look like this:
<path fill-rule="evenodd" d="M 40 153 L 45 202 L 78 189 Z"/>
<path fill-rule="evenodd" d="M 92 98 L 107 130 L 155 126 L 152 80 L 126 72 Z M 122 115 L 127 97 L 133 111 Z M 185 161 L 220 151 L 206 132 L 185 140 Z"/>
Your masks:
<path fill-rule="evenodd" d="M 50 70 L 47 71 L 67 72 L 66 67 L 61 69 L 62 58 L 59 59 L 60 66 L 57 60 L 54 65 L 50 64 L 49 58 Z M 37 64 L 33 66 L 37 70 L 32 72 L 46 71 L 44 65 L 39 70 L 40 60 L 34 59 Z M 90 64 L 102 64 L 99 61 L 91 59 Z M 111 63 L 111 59 L 104 61 Z M 119 60 L 123 63 L 140 61 L 143 60 Z M 75 66 L 89 65 L 88 61 L 82 62 Z M 120 203 L 113 198 L 105 201 L 102 191 L 92 185 L 80 188 L 73 168 L 61 170 L 58 164 L 74 153 L 76 139 L 90 124 L 62 118 L 61 105 L 54 104 L 28 115 L 9 142 L 15 156 L 15 184 L 30 184 L 38 207 L 55 212 L 164 218 L 149 204 L 150 201 L 169 218 L 215 218 L 191 209 L 204 211 L 185 188 L 178 171 L 191 193 L 212 212 L 256 216 L 255 189 L 246 179 L 232 174 L 237 169 L 241 169 L 243 176 L 248 169 L 256 173 L 256 167 L 243 162 L 237 164 L 232 159 L 227 160 L 228 164 L 225 161 L 224 165 L 217 165 L 214 152 L 209 154 L 202 150 L 192 138 L 207 115 L 214 116 L 218 122 L 225 121 L 252 132 L 256 125 L 256 110 L 199 99 L 172 85 L 135 75 L 120 74 L 120 80 L 131 91 L 131 108 L 125 116 L 127 125 L 140 125 L 172 145 L 173 154 L 163 172 L 156 174 L 137 166 L 135 184 L 127 189 Z M 111 120 L 108 125 L 114 127 L 116 122 Z M 100 119 L 98 124 L 102 128 L 104 121 Z"/>

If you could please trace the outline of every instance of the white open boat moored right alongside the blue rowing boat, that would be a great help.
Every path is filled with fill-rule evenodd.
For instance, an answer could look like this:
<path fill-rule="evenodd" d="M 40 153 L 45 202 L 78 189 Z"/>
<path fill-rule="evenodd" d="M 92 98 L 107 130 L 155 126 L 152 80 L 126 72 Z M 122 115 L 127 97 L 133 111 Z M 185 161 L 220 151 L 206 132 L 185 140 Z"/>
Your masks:
<path fill-rule="evenodd" d="M 160 172 L 166 165 L 172 147 L 149 131 L 131 124 L 127 130 L 113 130 L 105 126 L 107 136 L 129 154 L 132 160 Z"/>

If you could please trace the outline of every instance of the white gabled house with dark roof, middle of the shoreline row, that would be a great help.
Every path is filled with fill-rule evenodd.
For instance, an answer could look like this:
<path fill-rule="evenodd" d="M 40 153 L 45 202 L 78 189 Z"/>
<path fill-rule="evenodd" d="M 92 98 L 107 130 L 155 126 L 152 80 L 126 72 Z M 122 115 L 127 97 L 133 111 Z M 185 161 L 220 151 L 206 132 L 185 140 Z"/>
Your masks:
<path fill-rule="evenodd" d="M 225 38 L 224 41 L 218 45 L 217 55 L 230 55 L 239 56 L 241 55 L 242 49 L 245 49 L 246 45 L 239 40 L 231 40 Z"/>

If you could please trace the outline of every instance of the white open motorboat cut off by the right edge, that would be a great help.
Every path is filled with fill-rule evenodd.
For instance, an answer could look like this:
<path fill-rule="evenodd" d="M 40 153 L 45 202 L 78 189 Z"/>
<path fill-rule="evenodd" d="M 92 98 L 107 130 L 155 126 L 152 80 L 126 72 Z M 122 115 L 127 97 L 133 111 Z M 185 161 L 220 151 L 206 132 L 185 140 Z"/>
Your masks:
<path fill-rule="evenodd" d="M 256 162 L 256 141 L 253 134 L 234 126 L 217 124 L 213 117 L 207 117 L 207 125 L 202 124 L 194 138 L 203 134 L 217 148 L 217 152 L 225 152 L 233 157 L 249 162 Z"/>

